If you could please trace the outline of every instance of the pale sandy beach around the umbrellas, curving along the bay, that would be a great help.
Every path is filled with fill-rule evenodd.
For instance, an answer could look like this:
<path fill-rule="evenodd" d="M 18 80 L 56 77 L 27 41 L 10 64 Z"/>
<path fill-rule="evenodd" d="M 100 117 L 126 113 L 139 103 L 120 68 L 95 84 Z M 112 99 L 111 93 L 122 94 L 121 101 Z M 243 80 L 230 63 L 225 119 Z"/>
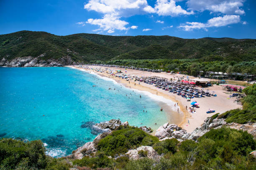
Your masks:
<path fill-rule="evenodd" d="M 104 70 L 105 69 L 121 70 L 122 72 L 125 72 L 125 68 L 90 66 L 89 69 L 85 69 L 85 68 L 75 67 L 75 66 L 67 66 L 67 67 L 72 67 L 72 68 L 79 69 L 79 70 L 81 70 L 81 69 L 89 70 L 91 72 L 97 73 L 100 76 L 112 78 L 116 82 L 122 83 L 125 87 L 131 88 L 131 89 L 137 89 L 137 90 L 141 90 L 141 91 L 147 91 L 147 92 L 150 92 L 151 94 L 162 96 L 167 100 L 172 100 L 173 102 L 178 103 L 179 112 L 174 111 L 174 109 L 176 110 L 177 106 L 176 107 L 173 106 L 172 109 L 164 108 L 165 109 L 164 111 L 172 112 L 172 113 L 176 112 L 175 115 L 177 115 L 180 118 L 176 117 L 175 123 L 178 124 L 179 126 L 181 126 L 182 128 L 184 128 L 185 130 L 187 130 L 188 133 L 191 133 L 193 130 L 195 130 L 195 128 L 201 126 L 206 117 L 210 117 L 216 113 L 223 113 L 223 112 L 226 112 L 231 109 L 236 109 L 236 108 L 242 107 L 238 103 L 234 102 L 235 98 L 229 97 L 230 92 L 223 90 L 222 86 L 213 85 L 212 87 L 207 87 L 205 89 L 210 90 L 210 92 L 214 91 L 214 94 L 217 94 L 217 96 L 216 97 L 211 96 L 211 97 L 195 98 L 194 100 L 196 100 L 199 103 L 200 108 L 196 108 L 196 112 L 190 113 L 188 110 L 186 110 L 186 106 L 188 109 L 191 106 L 190 105 L 191 101 L 187 101 L 182 96 L 170 93 L 169 91 L 159 89 L 159 88 L 155 87 L 154 85 L 149 85 L 144 82 L 140 82 L 140 84 L 138 84 L 138 82 L 134 82 L 134 80 L 131 80 L 130 84 L 129 84 L 129 82 L 127 80 L 124 80 L 122 78 L 120 79 L 119 77 L 110 76 L 110 74 L 105 73 L 105 72 L 97 72 L 95 70 L 92 70 L 92 68 L 94 68 L 94 69 L 97 68 L 97 69 L 104 69 Z M 144 77 L 158 76 L 158 77 L 167 78 L 169 80 L 171 78 L 172 78 L 172 80 L 178 80 L 178 78 L 180 78 L 180 77 L 185 77 L 185 78 L 187 77 L 185 75 L 170 74 L 170 73 L 166 73 L 166 72 L 158 73 L 158 72 L 147 72 L 147 71 L 132 70 L 132 69 L 126 69 L 126 71 L 127 71 L 127 74 L 130 74 L 130 75 L 144 76 Z M 193 80 L 193 79 L 195 79 L 195 77 L 189 76 L 189 80 Z M 134 84 L 136 84 L 136 85 L 134 85 Z M 166 107 L 169 107 L 169 106 L 166 105 Z M 209 109 L 215 110 L 216 112 L 207 114 L 206 111 Z M 172 117 L 170 117 L 170 119 L 172 120 Z M 188 123 L 188 120 L 189 120 L 189 123 Z M 166 120 L 166 122 L 167 122 L 167 120 Z"/>

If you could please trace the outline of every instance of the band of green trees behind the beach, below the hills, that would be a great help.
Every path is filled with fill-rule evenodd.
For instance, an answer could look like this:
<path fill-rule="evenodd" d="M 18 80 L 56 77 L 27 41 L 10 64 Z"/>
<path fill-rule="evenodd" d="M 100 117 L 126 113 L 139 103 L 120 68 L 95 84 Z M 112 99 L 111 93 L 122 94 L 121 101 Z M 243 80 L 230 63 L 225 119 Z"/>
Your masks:
<path fill-rule="evenodd" d="M 256 62 L 234 62 L 234 61 L 201 61 L 196 59 L 181 60 L 111 60 L 107 62 L 93 61 L 95 64 L 124 65 L 150 69 L 164 69 L 165 71 L 182 71 L 188 75 L 205 76 L 207 72 L 227 72 L 232 76 L 233 73 L 242 73 L 248 75 L 256 75 Z M 203 72 L 200 72 L 203 71 Z"/>

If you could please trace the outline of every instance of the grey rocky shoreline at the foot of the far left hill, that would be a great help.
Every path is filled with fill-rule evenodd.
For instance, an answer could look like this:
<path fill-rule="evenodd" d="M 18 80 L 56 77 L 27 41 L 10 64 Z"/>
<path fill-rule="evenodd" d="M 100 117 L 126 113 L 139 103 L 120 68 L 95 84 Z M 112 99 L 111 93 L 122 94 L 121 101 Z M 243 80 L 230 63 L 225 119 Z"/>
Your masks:
<path fill-rule="evenodd" d="M 66 56 L 60 59 L 48 59 L 43 60 L 45 54 L 41 54 L 38 57 L 16 57 L 12 60 L 7 60 L 5 57 L 0 60 L 0 66 L 5 67 L 61 67 L 64 65 L 79 65 L 74 62 L 71 57 Z"/>

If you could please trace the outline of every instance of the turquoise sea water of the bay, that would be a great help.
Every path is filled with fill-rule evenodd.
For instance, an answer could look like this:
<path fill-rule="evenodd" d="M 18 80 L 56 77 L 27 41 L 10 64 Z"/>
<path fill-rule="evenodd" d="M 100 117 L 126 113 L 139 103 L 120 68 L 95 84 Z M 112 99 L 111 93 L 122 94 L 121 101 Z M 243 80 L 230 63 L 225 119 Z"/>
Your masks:
<path fill-rule="evenodd" d="M 143 93 L 80 70 L 0 67 L 0 137 L 41 139 L 54 157 L 92 141 L 97 132 L 90 122 L 120 118 L 153 127 L 168 120 L 159 109 L 158 102 Z M 89 126 L 81 128 L 84 123 Z"/>

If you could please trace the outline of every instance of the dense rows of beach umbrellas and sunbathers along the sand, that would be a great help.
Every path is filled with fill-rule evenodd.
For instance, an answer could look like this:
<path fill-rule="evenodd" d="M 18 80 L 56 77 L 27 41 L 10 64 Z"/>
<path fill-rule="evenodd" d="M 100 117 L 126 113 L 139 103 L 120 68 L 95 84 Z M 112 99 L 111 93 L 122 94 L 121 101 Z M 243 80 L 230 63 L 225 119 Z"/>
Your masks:
<path fill-rule="evenodd" d="M 78 65 L 76 67 L 81 67 L 83 69 L 92 70 L 96 72 L 107 73 L 109 77 L 119 77 L 120 79 L 128 81 L 129 84 L 131 80 L 133 80 L 134 86 L 136 86 L 136 82 L 137 84 L 140 84 L 140 82 L 144 82 L 149 85 L 154 85 L 159 89 L 180 95 L 187 101 L 192 100 L 192 102 L 194 102 L 194 104 L 192 104 L 192 107 L 189 107 L 189 111 L 192 113 L 195 112 L 195 107 L 200 107 L 195 98 L 217 96 L 216 94 L 214 94 L 214 91 L 210 92 L 210 90 L 204 90 L 204 88 L 199 88 L 195 85 L 194 82 L 181 80 L 183 77 L 178 80 L 168 80 L 166 78 L 156 76 L 144 77 L 138 75 L 131 75 L 128 74 L 126 70 L 125 72 L 121 72 L 120 70 L 113 70 L 111 68 L 90 67 L 88 65 Z"/>

